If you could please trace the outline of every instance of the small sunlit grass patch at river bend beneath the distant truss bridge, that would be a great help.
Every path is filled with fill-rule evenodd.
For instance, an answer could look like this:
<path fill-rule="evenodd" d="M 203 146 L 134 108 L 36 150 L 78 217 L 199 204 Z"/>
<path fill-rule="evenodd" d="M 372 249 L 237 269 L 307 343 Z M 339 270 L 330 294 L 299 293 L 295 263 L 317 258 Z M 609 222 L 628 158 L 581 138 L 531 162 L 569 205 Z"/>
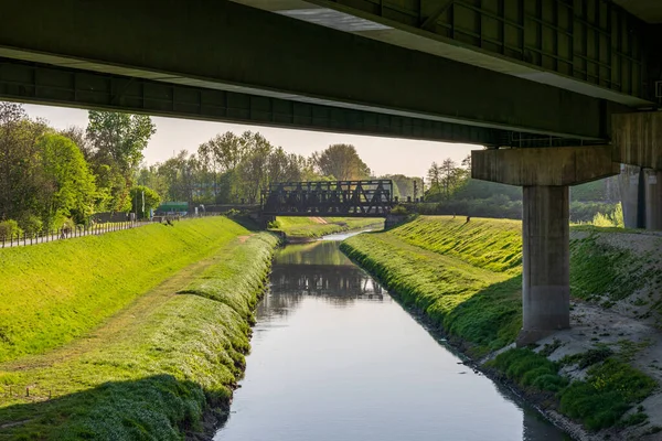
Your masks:
<path fill-rule="evenodd" d="M 314 239 L 334 233 L 362 228 L 382 228 L 384 219 L 364 217 L 281 217 L 276 219 L 273 229 L 287 237 Z"/>

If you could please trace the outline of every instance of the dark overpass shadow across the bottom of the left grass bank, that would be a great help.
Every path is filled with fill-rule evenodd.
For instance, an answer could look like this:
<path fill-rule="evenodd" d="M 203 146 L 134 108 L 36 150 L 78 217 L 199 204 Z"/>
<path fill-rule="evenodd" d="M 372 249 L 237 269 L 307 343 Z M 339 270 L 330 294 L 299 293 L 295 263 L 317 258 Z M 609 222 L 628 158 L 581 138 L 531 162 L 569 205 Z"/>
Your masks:
<path fill-rule="evenodd" d="M 7 399 L 8 387 L 2 389 Z M 205 389 L 171 375 L 109 381 L 52 399 L 36 390 L 21 398 L 30 402 L 0 408 L 0 439 L 181 439 L 181 432 L 191 439 L 226 419 L 229 397 L 229 389 Z M 213 411 L 200 424 L 207 407 Z"/>

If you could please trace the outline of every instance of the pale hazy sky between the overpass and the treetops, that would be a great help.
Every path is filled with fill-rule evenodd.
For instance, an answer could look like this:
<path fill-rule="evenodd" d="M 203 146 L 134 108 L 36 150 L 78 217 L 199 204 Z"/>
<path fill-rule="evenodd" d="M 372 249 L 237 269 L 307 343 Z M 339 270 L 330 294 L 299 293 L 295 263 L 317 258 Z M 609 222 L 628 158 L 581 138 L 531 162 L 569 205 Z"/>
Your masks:
<path fill-rule="evenodd" d="M 44 118 L 56 129 L 71 126 L 87 127 L 87 110 L 35 105 L 24 107 L 30 117 Z M 353 144 L 375 175 L 402 173 L 408 176 L 425 176 L 433 161 L 441 162 L 451 158 L 459 163 L 471 150 L 481 149 L 479 146 L 449 142 L 410 141 L 177 118 L 152 117 L 152 120 L 157 125 L 157 133 L 143 151 L 148 164 L 162 162 L 180 150 L 193 153 L 197 146 L 216 133 L 233 131 L 241 135 L 246 130 L 259 131 L 274 146 L 282 147 L 288 153 L 305 157 L 333 143 Z"/>

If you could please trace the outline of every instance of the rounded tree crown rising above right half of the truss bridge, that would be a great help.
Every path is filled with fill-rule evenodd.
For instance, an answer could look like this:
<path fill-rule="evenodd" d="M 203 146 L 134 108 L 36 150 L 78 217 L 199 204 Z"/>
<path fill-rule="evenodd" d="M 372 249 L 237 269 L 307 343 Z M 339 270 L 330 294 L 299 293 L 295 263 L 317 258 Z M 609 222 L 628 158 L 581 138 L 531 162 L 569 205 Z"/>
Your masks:
<path fill-rule="evenodd" d="M 370 176 L 369 166 L 361 160 L 356 148 L 351 144 L 329 146 L 321 152 L 312 153 L 316 168 L 324 175 L 340 181 L 361 180 Z"/>

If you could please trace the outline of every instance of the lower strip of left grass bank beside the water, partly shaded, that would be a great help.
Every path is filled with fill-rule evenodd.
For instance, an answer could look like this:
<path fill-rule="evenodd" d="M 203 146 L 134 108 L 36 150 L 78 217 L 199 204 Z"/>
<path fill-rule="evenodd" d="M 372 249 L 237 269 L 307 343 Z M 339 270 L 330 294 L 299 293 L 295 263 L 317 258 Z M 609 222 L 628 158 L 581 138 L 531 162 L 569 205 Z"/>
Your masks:
<path fill-rule="evenodd" d="M 0 364 L 0 439 L 180 440 L 226 410 L 277 239 L 222 226 L 204 260 L 84 338 Z"/>

